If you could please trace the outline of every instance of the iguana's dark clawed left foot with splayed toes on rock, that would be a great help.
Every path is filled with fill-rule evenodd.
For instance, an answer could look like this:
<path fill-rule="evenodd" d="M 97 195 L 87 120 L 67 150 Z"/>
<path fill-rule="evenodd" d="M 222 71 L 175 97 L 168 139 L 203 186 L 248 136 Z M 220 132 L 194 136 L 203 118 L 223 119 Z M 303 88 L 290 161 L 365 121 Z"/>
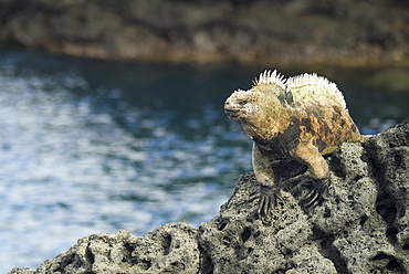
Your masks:
<path fill-rule="evenodd" d="M 260 198 L 260 203 L 258 208 L 259 217 L 266 217 L 270 209 L 274 209 L 276 205 L 276 200 L 282 200 L 280 196 L 280 189 L 273 186 L 260 186 L 259 192 L 252 194 L 249 201 Z"/>

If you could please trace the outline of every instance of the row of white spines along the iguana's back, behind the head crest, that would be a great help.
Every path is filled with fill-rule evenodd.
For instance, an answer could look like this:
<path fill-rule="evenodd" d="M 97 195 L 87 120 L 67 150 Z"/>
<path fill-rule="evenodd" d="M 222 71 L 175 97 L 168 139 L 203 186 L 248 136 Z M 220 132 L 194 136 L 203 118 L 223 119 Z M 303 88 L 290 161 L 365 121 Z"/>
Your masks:
<path fill-rule="evenodd" d="M 338 89 L 337 85 L 333 82 L 329 82 L 326 77 L 318 76 L 316 73 L 313 74 L 304 73 L 297 76 L 290 77 L 286 81 L 286 87 L 290 91 L 293 88 L 301 88 L 307 85 L 317 85 L 324 87 L 328 92 L 328 94 L 333 94 L 334 96 L 336 96 L 343 104 L 344 108 L 346 108 L 344 95 Z"/>

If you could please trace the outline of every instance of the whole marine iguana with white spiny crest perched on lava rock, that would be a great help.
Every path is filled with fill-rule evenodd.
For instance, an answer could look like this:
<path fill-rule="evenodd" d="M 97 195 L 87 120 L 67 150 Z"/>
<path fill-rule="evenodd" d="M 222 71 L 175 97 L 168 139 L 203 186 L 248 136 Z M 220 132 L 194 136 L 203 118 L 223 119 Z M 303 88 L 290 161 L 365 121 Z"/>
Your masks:
<path fill-rule="evenodd" d="M 329 168 L 323 155 L 343 143 L 363 141 L 336 84 L 317 74 L 287 80 L 264 71 L 249 91 L 233 92 L 224 112 L 242 124 L 253 139 L 252 165 L 260 190 L 259 215 L 266 215 L 281 199 L 274 181 L 272 158 L 289 158 L 308 167 L 315 188 L 304 199 L 314 204 L 327 190 Z"/>

